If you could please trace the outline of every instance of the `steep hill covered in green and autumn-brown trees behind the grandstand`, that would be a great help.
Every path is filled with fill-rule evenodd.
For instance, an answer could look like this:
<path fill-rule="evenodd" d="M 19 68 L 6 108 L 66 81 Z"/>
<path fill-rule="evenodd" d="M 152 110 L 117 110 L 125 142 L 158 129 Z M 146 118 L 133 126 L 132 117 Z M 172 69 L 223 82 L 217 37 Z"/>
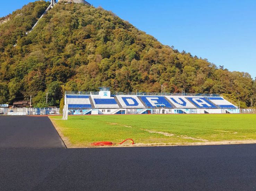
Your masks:
<path fill-rule="evenodd" d="M 0 103 L 32 95 L 43 107 L 48 92 L 53 106 L 66 90 L 160 92 L 161 84 L 167 92 L 224 93 L 236 102 L 239 92 L 241 107 L 256 103 L 248 73 L 162 45 L 102 8 L 58 3 L 26 36 L 48 6 L 36 1 L 0 18 Z"/>

